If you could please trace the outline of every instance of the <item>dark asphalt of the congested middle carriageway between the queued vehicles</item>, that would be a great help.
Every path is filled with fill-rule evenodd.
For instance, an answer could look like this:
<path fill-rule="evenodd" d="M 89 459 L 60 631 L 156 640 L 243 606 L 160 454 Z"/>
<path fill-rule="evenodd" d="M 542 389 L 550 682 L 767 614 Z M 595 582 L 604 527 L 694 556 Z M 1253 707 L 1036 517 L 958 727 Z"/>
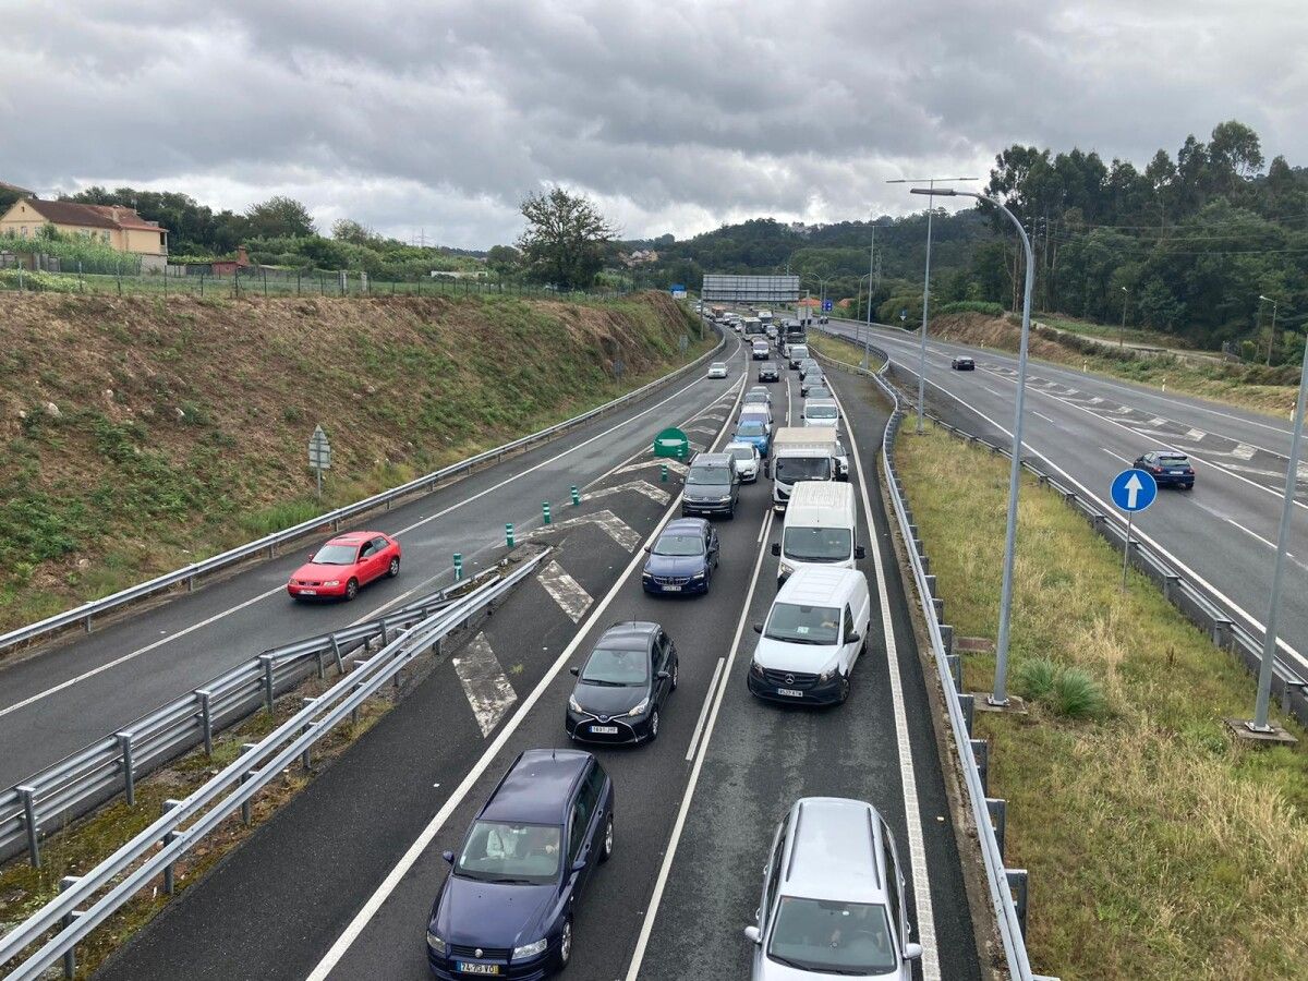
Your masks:
<path fill-rule="evenodd" d="M 742 374 L 698 386 L 683 405 L 689 432 L 721 445 Z M 702 598 L 650 598 L 638 545 L 678 513 L 645 493 L 603 494 L 650 473 L 647 449 L 607 447 L 595 494 L 576 521 L 542 534 L 557 568 L 515 591 L 445 651 L 369 734 L 271 818 L 245 845 L 161 913 L 109 961 L 106 981 L 174 978 L 425 978 L 424 930 L 476 808 L 525 748 L 568 746 L 566 671 L 611 623 L 655 620 L 680 651 L 680 685 L 659 739 L 595 752 L 616 786 L 616 850 L 579 901 L 566 977 L 746 977 L 742 929 L 759 903 L 760 869 L 790 803 L 806 794 L 871 800 L 909 867 L 912 939 L 926 954 L 916 977 L 981 977 L 937 734 L 909 607 L 876 485 L 886 408 L 861 379 L 833 378 L 845 405 L 859 494 L 861 568 L 872 586 L 869 653 L 842 706 L 804 712 L 746 691 L 755 634 L 776 590 L 770 544 L 780 528 L 766 480 L 747 487 L 718 523 L 721 568 Z M 798 413 L 795 374 L 772 386 L 778 416 Z M 642 429 L 644 433 L 644 429 Z M 636 468 L 636 470 L 630 470 Z M 610 511 L 634 540 L 586 521 Z M 569 517 L 573 517 L 569 511 Z M 570 583 L 560 589 L 560 582 Z M 468 672 L 497 675 L 501 697 L 473 705 Z M 460 684 L 462 683 L 462 684 Z M 510 695 L 511 693 L 511 695 Z"/>

